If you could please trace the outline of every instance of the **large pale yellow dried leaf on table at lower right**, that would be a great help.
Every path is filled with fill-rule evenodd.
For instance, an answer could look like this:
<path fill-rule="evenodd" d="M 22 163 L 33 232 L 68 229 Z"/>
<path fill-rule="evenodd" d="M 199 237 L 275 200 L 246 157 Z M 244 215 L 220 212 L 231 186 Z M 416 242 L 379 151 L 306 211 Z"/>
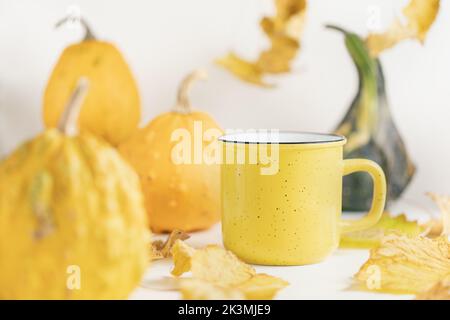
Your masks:
<path fill-rule="evenodd" d="M 388 235 L 372 249 L 355 278 L 362 287 L 391 293 L 419 293 L 450 273 L 446 237 Z"/>

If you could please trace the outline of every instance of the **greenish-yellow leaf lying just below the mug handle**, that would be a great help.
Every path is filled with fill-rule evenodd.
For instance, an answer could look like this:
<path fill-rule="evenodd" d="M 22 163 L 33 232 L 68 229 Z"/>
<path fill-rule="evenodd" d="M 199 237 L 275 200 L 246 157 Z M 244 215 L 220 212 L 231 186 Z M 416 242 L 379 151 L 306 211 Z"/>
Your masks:
<path fill-rule="evenodd" d="M 409 236 L 418 236 L 425 230 L 417 221 L 408 221 L 406 215 L 393 217 L 385 212 L 378 223 L 366 230 L 350 232 L 341 236 L 341 248 L 368 249 L 378 246 L 381 239 L 388 234 L 402 233 Z"/>

